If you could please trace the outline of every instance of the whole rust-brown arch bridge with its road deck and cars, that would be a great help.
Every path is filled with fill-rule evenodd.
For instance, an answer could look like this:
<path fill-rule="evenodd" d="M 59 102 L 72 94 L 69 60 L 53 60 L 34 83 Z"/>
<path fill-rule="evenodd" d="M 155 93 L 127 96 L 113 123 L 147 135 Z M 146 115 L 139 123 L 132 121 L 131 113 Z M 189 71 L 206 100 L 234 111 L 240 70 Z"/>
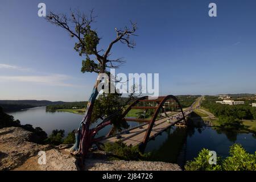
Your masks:
<path fill-rule="evenodd" d="M 105 137 L 100 142 L 121 140 L 127 145 L 139 145 L 143 151 L 148 140 L 154 139 L 168 127 L 177 123 L 187 125 L 186 116 L 191 112 L 192 106 L 183 111 L 179 100 L 172 95 L 154 99 L 148 96 L 140 97 L 127 107 L 122 114 L 122 118 L 127 122 L 137 122 L 139 125 L 122 131 L 118 134 L 119 137 Z M 129 113 L 138 114 L 138 117 L 129 117 Z"/>

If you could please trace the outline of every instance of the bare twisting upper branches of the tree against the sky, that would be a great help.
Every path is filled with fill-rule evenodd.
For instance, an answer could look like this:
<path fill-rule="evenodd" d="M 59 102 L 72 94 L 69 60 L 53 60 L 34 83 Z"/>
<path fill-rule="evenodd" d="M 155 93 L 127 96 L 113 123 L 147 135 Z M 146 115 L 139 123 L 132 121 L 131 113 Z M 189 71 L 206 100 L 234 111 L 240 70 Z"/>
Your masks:
<path fill-rule="evenodd" d="M 86 52 L 86 42 L 85 36 L 88 34 L 88 27 L 95 21 L 97 16 L 93 16 L 93 10 L 90 11 L 89 16 L 86 16 L 84 13 L 81 13 L 79 10 L 72 11 L 70 10 L 70 18 L 67 18 L 65 14 L 55 14 L 50 12 L 49 15 L 46 16 L 46 20 L 56 26 L 64 28 L 72 37 L 75 37 L 79 42 L 76 44 L 80 49 L 80 56 L 82 53 Z M 121 42 L 126 44 L 129 48 L 135 47 L 135 42 L 130 40 L 131 36 L 137 36 L 134 32 L 137 30 L 137 24 L 131 22 L 131 27 L 124 29 L 115 28 L 115 33 L 117 37 L 109 44 L 108 48 L 104 53 L 104 49 L 97 50 L 96 47 L 93 47 L 92 53 L 96 56 L 96 60 L 98 64 L 100 64 L 101 71 L 105 72 L 105 68 L 119 68 L 120 65 L 125 63 L 125 61 L 119 59 L 110 60 L 108 57 L 111 55 L 110 51 L 113 45 L 117 42 Z M 100 38 L 99 38 L 100 40 Z M 92 54 L 90 53 L 90 54 Z"/>

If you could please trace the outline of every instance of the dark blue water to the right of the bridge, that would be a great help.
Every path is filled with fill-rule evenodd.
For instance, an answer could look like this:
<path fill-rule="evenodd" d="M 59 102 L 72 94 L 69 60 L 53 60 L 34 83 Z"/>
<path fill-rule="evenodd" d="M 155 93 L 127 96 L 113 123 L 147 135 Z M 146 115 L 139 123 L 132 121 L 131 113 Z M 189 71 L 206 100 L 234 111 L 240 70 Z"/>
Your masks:
<path fill-rule="evenodd" d="M 151 160 L 184 166 L 187 160 L 195 158 L 203 148 L 226 157 L 229 147 L 234 143 L 242 144 L 251 154 L 256 151 L 256 138 L 252 133 L 214 130 L 212 127 L 172 127 L 155 140 L 150 140 L 145 152 L 151 152 Z"/>

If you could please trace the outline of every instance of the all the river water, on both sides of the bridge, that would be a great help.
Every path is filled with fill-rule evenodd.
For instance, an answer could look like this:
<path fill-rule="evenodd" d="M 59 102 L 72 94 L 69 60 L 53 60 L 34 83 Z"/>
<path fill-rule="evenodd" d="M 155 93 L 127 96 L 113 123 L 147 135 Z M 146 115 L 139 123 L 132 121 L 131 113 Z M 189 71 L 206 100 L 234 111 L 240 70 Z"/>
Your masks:
<path fill-rule="evenodd" d="M 41 127 L 46 133 L 51 134 L 54 129 L 65 130 L 65 135 L 77 129 L 82 115 L 67 112 L 46 112 L 46 107 L 36 107 L 22 111 L 8 113 L 19 119 L 22 125 L 31 124 Z M 138 125 L 129 122 L 130 126 Z M 94 123 L 92 127 L 96 126 Z M 100 131 L 97 137 L 106 135 L 111 126 Z M 233 143 L 241 143 L 251 154 L 256 151 L 256 137 L 252 133 L 236 133 L 217 131 L 211 127 L 201 129 L 184 127 L 171 127 L 159 135 L 155 140 L 147 143 L 146 152 L 152 152 L 151 160 L 178 163 L 192 160 L 202 148 L 217 152 L 217 155 L 228 156 L 229 147 Z"/>

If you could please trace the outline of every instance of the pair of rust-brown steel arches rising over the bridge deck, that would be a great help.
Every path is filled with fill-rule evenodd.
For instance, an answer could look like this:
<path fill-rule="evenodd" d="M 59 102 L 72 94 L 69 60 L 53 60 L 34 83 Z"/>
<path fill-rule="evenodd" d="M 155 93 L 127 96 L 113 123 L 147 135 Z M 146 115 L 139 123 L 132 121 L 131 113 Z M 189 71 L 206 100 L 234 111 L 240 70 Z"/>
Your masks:
<path fill-rule="evenodd" d="M 159 103 L 158 103 L 158 106 L 156 107 L 155 112 L 154 112 L 154 115 L 153 115 L 151 121 L 150 121 L 149 124 L 148 124 L 147 130 L 146 130 L 146 134 L 144 135 L 143 142 L 142 142 L 142 144 L 141 144 L 141 146 L 140 146 L 140 148 L 141 148 L 142 151 L 144 151 L 144 149 L 146 148 L 146 144 L 147 144 L 147 142 L 148 142 L 148 139 L 150 138 L 150 133 L 151 133 L 151 131 L 152 131 L 152 128 L 153 128 L 154 123 L 155 123 L 155 120 L 156 120 L 156 117 L 158 116 L 160 109 L 162 109 L 164 103 L 165 103 L 167 100 L 169 100 L 169 99 L 175 100 L 175 102 L 176 102 L 177 105 L 179 106 L 179 109 L 181 110 L 181 113 L 182 113 L 182 115 L 183 115 L 183 119 L 184 119 L 184 121 L 185 121 L 185 124 L 187 124 L 187 121 L 186 121 L 186 119 L 185 119 L 185 115 L 184 115 L 183 109 L 182 109 L 182 107 L 181 107 L 181 105 L 180 105 L 179 100 L 178 100 L 175 96 L 173 96 L 173 95 L 168 95 L 168 96 L 164 96 L 164 97 L 158 97 L 158 99 L 157 99 L 158 102 L 159 102 Z M 133 104 L 131 104 L 129 107 L 127 107 L 127 109 L 125 110 L 125 112 L 124 112 L 123 115 L 122 115 L 122 118 L 125 118 L 126 114 L 129 113 L 129 111 L 132 109 L 132 107 L 134 107 L 135 105 L 137 105 L 139 102 L 143 102 L 143 101 L 145 101 L 145 100 L 150 101 L 150 99 L 148 99 L 148 96 L 140 97 L 140 98 L 138 98 L 137 100 L 135 100 L 135 101 L 133 102 Z M 155 101 L 155 100 L 152 99 L 152 101 Z"/>

